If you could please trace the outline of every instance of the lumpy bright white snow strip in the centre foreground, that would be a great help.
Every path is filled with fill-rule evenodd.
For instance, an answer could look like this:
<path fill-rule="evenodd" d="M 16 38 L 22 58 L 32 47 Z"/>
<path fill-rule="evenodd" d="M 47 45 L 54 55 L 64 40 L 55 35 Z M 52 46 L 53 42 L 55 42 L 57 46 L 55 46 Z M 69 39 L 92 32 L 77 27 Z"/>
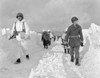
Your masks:
<path fill-rule="evenodd" d="M 40 60 L 35 71 L 32 70 L 29 78 L 66 78 L 61 53 L 47 53 Z"/>

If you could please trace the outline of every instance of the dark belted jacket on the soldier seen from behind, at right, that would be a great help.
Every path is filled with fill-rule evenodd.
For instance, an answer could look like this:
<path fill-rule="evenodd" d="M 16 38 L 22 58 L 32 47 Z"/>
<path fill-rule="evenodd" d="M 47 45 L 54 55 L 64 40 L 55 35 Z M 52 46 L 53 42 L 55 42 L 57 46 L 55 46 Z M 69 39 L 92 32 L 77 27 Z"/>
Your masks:
<path fill-rule="evenodd" d="M 83 41 L 83 34 L 82 34 L 82 28 L 80 25 L 72 24 L 69 26 L 67 30 L 67 35 L 65 36 L 65 40 L 69 41 L 69 46 L 71 47 L 78 47 L 81 44 L 81 41 Z"/>

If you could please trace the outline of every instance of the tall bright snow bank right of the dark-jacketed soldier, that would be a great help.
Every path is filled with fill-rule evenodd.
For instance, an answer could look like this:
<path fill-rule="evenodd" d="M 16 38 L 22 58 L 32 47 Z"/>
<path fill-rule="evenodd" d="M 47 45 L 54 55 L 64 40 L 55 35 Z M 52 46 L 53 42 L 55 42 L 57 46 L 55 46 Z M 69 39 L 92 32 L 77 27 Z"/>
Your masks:
<path fill-rule="evenodd" d="M 84 78 L 100 77 L 100 47 L 98 46 L 100 36 L 100 26 L 92 23 L 88 29 L 89 50 L 86 52 L 79 71 Z M 88 46 L 87 46 L 88 47 Z"/>

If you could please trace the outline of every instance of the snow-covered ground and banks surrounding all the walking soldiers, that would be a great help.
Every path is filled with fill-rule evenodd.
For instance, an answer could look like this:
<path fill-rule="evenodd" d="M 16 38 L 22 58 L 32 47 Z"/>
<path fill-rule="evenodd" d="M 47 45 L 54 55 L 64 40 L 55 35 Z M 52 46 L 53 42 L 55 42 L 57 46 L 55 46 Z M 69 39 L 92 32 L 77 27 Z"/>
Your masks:
<path fill-rule="evenodd" d="M 69 54 L 64 54 L 60 40 L 45 50 L 41 35 L 36 33 L 32 33 L 27 42 L 30 60 L 22 54 L 22 63 L 15 65 L 16 52 L 21 49 L 16 40 L 9 41 L 0 35 L 0 78 L 100 78 L 100 31 L 97 29 L 98 26 L 92 24 L 83 30 L 85 46 L 80 48 L 79 67 L 70 62 Z"/>

